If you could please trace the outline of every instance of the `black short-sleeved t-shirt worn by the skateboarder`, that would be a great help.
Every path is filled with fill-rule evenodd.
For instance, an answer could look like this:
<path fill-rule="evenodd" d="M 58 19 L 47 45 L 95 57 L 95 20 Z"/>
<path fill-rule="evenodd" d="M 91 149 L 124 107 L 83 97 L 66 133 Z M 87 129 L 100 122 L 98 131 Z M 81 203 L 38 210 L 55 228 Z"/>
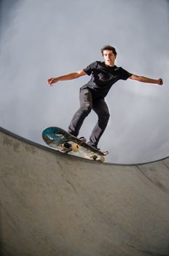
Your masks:
<path fill-rule="evenodd" d="M 89 88 L 93 91 L 93 94 L 98 94 L 98 97 L 101 98 L 106 97 L 111 86 L 119 79 L 127 80 L 132 75 L 122 67 L 109 67 L 105 62 L 101 61 L 93 62 L 83 70 L 87 75 L 92 74 L 92 78 L 81 89 Z"/>

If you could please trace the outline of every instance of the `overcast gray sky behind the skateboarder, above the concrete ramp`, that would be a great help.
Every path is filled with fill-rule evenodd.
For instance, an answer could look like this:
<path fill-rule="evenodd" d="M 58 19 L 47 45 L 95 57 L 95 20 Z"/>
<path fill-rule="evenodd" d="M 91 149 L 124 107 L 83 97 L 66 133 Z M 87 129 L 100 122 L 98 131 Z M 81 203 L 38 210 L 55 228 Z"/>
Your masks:
<path fill-rule="evenodd" d="M 0 25 L 1 127 L 44 145 L 45 127 L 67 129 L 89 76 L 47 78 L 103 60 L 117 49 L 117 66 L 163 78 L 163 86 L 119 80 L 106 97 L 111 118 L 99 147 L 108 162 L 135 163 L 169 155 L 169 2 L 167 0 L 4 0 Z M 80 135 L 90 136 L 90 113 Z"/>

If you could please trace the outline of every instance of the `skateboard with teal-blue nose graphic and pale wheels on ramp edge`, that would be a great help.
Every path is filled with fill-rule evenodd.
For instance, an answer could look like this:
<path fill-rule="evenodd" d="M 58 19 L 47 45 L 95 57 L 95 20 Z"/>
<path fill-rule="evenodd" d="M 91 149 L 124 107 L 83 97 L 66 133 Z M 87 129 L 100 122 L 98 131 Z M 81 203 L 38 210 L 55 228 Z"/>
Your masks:
<path fill-rule="evenodd" d="M 59 127 L 47 127 L 42 132 L 42 138 L 48 146 L 76 157 L 104 162 L 106 154 L 109 154 L 108 151 L 102 152 Z"/>

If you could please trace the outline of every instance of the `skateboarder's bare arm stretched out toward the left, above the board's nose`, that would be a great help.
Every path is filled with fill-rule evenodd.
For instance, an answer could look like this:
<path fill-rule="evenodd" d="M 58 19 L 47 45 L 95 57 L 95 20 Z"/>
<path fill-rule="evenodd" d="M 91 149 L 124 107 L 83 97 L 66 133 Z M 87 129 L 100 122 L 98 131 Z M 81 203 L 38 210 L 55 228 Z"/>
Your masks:
<path fill-rule="evenodd" d="M 87 75 L 87 74 L 86 74 L 86 72 L 84 72 L 84 70 L 79 70 L 77 72 L 69 73 L 66 75 L 61 75 L 58 78 L 49 78 L 49 79 L 47 79 L 47 83 L 49 84 L 49 86 L 52 86 L 52 83 L 57 83 L 58 81 L 63 81 L 63 80 L 76 79 L 76 78 L 81 77 L 82 75 Z"/>

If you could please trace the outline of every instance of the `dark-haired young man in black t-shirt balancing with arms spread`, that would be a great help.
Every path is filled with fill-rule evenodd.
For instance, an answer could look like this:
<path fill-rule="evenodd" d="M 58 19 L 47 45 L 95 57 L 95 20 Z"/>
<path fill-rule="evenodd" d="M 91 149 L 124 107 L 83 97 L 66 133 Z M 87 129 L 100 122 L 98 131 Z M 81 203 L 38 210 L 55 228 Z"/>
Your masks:
<path fill-rule="evenodd" d="M 101 49 L 101 53 L 104 62 L 95 61 L 85 69 L 62 75 L 58 78 L 49 78 L 47 80 L 47 83 L 52 86 L 53 83 L 57 83 L 61 80 L 71 80 L 79 78 L 82 75 L 92 75 L 90 81 L 80 89 L 80 108 L 74 114 L 71 124 L 68 127 L 68 132 L 77 137 L 84 118 L 86 118 L 93 109 L 98 115 L 98 122 L 95 124 L 88 144 L 95 148 L 98 147 L 98 141 L 100 140 L 101 135 L 103 135 L 109 121 L 109 108 L 106 105 L 104 98 L 106 97 L 106 94 L 108 94 L 109 89 L 111 89 L 111 86 L 116 83 L 117 80 L 127 80 L 129 78 L 144 83 L 155 83 L 158 85 L 162 85 L 163 83 L 162 78 L 152 79 L 134 75 L 127 72 L 125 69 L 122 69 L 122 67 L 115 66 L 114 62 L 117 58 L 117 51 L 111 45 L 105 45 Z"/>

